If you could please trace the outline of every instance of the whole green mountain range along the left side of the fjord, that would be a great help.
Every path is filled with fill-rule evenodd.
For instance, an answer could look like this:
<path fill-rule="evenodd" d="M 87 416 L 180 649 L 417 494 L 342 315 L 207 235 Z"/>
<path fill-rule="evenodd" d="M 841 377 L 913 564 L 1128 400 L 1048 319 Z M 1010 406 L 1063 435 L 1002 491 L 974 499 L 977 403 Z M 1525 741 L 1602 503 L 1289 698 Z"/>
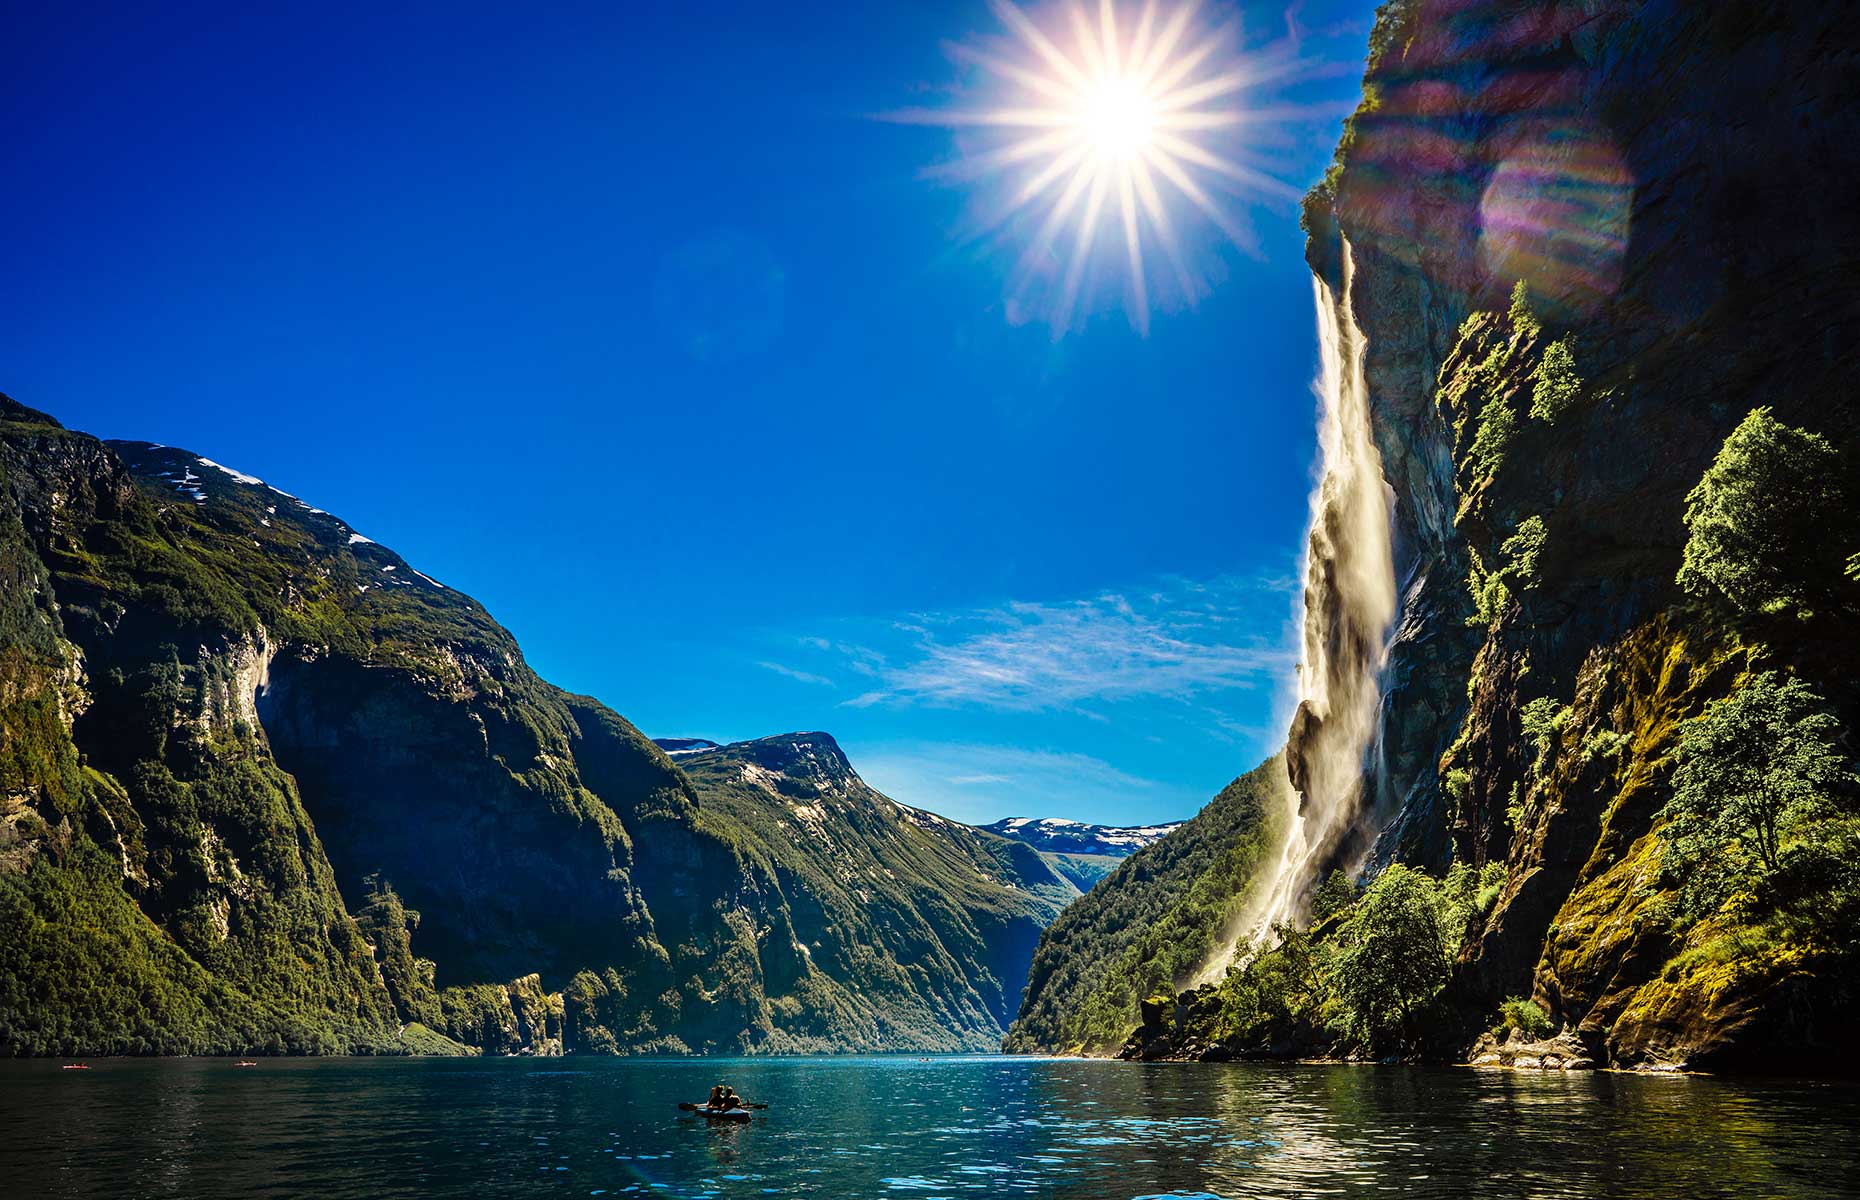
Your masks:
<path fill-rule="evenodd" d="M 4 1053 L 984 1049 L 1073 895 L 824 735 L 673 761 L 339 517 L 9 398 L 0 584 Z"/>

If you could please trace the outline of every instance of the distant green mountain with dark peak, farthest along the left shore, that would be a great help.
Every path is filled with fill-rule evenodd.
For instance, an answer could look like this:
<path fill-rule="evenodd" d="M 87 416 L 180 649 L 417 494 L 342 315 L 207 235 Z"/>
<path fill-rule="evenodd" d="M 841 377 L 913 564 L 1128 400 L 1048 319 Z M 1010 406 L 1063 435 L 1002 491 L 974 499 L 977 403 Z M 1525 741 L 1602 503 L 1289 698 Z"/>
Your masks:
<path fill-rule="evenodd" d="M 781 936 L 869 1049 L 999 1049 L 1040 930 L 1079 891 L 1030 847 L 874 791 L 826 733 L 681 759 L 705 828 L 794 897 Z"/>

